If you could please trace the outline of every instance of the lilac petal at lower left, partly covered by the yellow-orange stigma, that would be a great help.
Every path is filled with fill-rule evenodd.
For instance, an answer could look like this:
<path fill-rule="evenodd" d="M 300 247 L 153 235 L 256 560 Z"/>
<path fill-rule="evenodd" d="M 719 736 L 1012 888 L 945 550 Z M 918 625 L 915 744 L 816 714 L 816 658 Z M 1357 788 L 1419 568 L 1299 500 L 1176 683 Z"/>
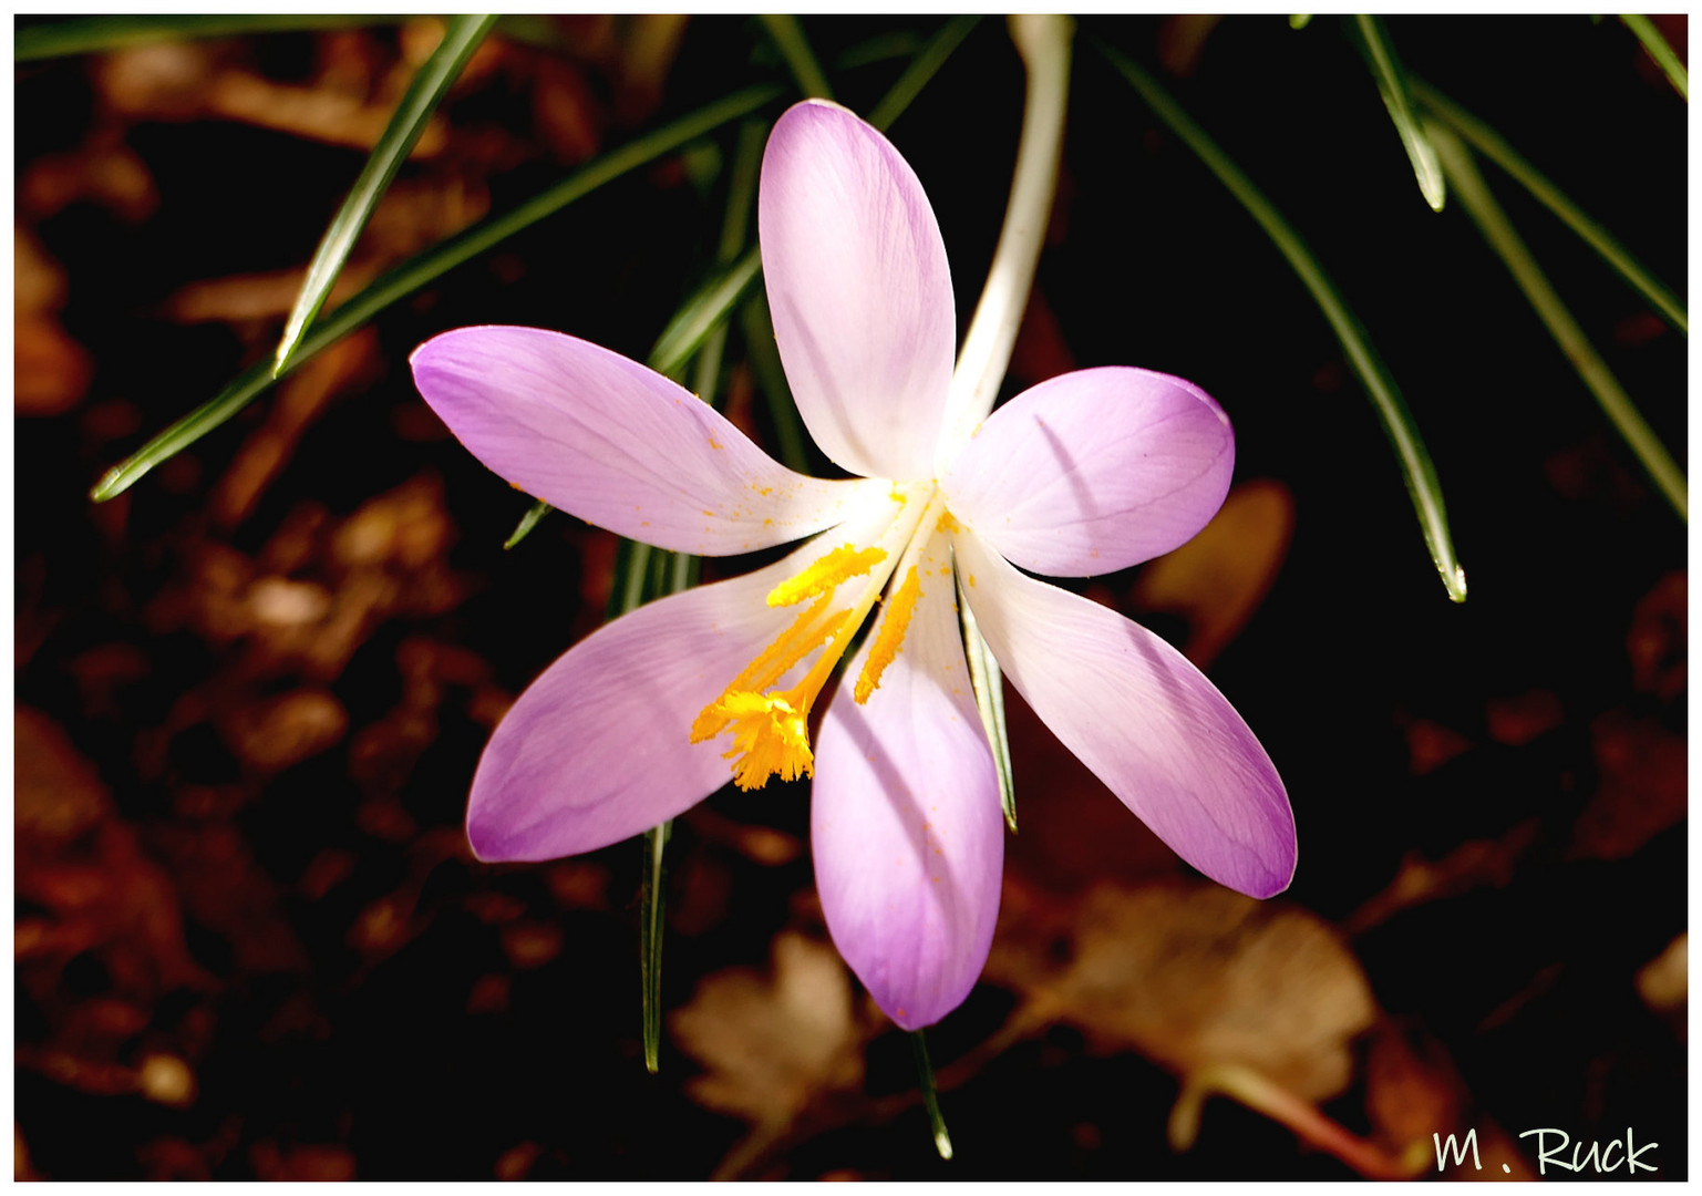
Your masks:
<path fill-rule="evenodd" d="M 691 808 L 732 779 L 691 721 L 797 611 L 764 595 L 800 561 L 650 602 L 574 645 L 497 725 L 473 776 L 480 859 L 594 851 Z"/>

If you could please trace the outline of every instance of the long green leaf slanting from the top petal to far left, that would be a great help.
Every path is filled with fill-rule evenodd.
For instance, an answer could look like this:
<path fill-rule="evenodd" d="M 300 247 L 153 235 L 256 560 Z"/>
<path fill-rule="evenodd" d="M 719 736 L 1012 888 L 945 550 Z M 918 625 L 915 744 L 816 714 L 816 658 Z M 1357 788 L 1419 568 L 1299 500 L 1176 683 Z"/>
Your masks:
<path fill-rule="evenodd" d="M 596 162 L 574 172 L 548 191 L 526 201 L 514 211 L 487 219 L 482 225 L 466 228 L 454 236 L 439 242 L 424 253 L 417 253 L 383 277 L 376 279 L 364 291 L 339 306 L 330 315 L 317 320 L 300 349 L 291 356 L 277 378 L 298 369 L 305 361 L 342 337 L 349 335 L 391 303 L 434 282 L 448 271 L 461 265 L 494 245 L 502 243 L 514 233 L 551 216 L 575 199 L 582 199 L 603 184 L 637 170 L 664 153 L 677 150 L 688 141 L 703 136 L 710 129 L 737 121 L 762 107 L 780 95 L 778 87 L 762 85 L 735 92 L 708 107 L 672 121 L 654 133 L 647 133 L 635 141 L 628 141 L 620 150 L 603 155 Z M 182 453 L 203 436 L 231 419 L 259 398 L 272 384 L 271 362 L 260 362 L 237 376 L 223 391 L 184 415 L 163 432 L 148 441 L 141 449 L 109 470 L 90 492 L 95 502 L 106 502 L 124 493 L 143 475 L 162 461 Z"/>

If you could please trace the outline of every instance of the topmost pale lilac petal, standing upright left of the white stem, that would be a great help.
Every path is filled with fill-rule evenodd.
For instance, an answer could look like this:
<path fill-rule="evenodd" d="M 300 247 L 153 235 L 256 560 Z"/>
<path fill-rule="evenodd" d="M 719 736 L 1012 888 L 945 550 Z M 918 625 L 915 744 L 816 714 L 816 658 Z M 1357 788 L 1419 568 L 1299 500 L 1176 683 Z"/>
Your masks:
<path fill-rule="evenodd" d="M 774 339 L 810 436 L 851 473 L 933 476 L 957 313 L 916 172 L 854 112 L 807 100 L 768 138 L 757 221 Z"/>

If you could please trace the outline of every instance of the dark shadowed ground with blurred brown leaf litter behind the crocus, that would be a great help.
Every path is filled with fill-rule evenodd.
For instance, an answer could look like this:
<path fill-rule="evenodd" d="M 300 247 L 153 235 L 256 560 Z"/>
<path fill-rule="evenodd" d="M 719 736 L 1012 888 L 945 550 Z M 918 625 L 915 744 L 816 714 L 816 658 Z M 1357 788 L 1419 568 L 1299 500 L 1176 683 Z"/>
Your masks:
<path fill-rule="evenodd" d="M 929 1031 L 951 1164 L 907 1096 L 904 1036 L 860 992 L 853 1062 L 827 1079 L 798 1065 L 815 1079 L 797 1099 L 762 1084 L 732 1102 L 705 1094 L 705 1036 L 722 1058 L 786 1051 L 785 1034 L 745 1041 L 761 1031 L 737 1016 L 671 1026 L 660 1075 L 645 1074 L 637 846 L 471 861 L 460 820 L 480 747 L 504 704 L 597 626 L 614 546 L 551 515 L 504 553 L 528 498 L 436 422 L 407 356 L 446 328 L 531 323 L 643 357 L 710 269 L 732 126 L 713 151 L 623 177 L 395 305 L 121 498 L 87 500 L 106 468 L 271 352 L 293 298 L 283 272 L 308 260 L 363 162 L 330 143 L 339 114 L 388 112 L 431 27 L 17 68 L 19 1174 L 1375 1174 L 1299 1143 L 1295 1118 L 1227 1101 L 1207 1106 L 1190 1152 L 1171 1150 L 1176 1060 L 1224 1050 L 1186 1017 L 1174 1034 L 1128 1029 L 1060 977 L 1105 949 L 1089 893 L 1203 888 L 1014 694 L 1023 832 L 1001 946 Z M 834 63 L 936 27 L 803 20 L 861 111 L 904 60 Z M 1409 70 L 1656 276 L 1683 281 L 1687 111 L 1620 24 L 1387 27 Z M 1682 49 L 1685 22 L 1663 27 Z M 1685 1177 L 1683 970 L 1676 997 L 1639 982 L 1687 929 L 1683 524 L 1462 206 L 1425 206 L 1341 19 L 1081 32 L 1060 199 L 1006 393 L 1077 366 L 1190 378 L 1234 420 L 1237 483 L 1265 480 L 1258 509 L 1278 529 L 1229 551 L 1242 570 L 1227 585 L 1263 599 L 1210 675 L 1283 774 L 1300 868 L 1273 907 L 1152 929 L 1169 944 L 1161 961 L 1193 960 L 1166 975 L 1198 970 L 1195 1000 L 1224 1002 L 1261 1041 L 1312 1019 L 1351 1079 L 1288 1087 L 1377 1157 L 1477 1126 L 1496 1162 L 1532 1167 L 1523 1130 L 1607 1143 L 1632 1126 L 1639 1145 L 1661 1143 L 1644 1155 L 1654 1177 Z M 1164 80 L 1370 330 L 1435 458 L 1465 604 L 1447 599 L 1305 289 L 1088 36 Z M 631 19 L 499 29 L 446 102 L 441 145 L 400 175 L 412 206 L 395 204 L 388 233 L 374 219 L 351 269 L 505 211 L 745 82 L 785 78 L 744 19 L 691 19 L 648 83 L 640 43 Z M 306 131 L 266 128 L 231 114 L 231 80 L 344 107 Z M 997 236 L 1021 82 L 1002 20 L 984 20 L 892 129 L 938 213 L 960 327 Z M 1683 463 L 1685 339 L 1479 165 Z M 209 279 L 235 282 L 208 298 L 196 288 Z M 737 330 L 723 390 L 771 442 Z M 1193 611 L 1157 609 L 1140 587 L 1142 570 L 1077 585 L 1183 645 L 1215 609 L 1210 585 Z M 825 943 L 807 789 L 723 791 L 683 818 L 669 897 L 667 1009 L 728 968 L 749 971 L 761 1009 L 776 936 Z M 1190 908 L 1217 908 L 1200 900 Z M 1261 937 L 1271 919 L 1336 946 L 1285 970 L 1287 939 Z M 1326 971 L 1368 992 L 1375 1017 L 1329 1004 Z M 1152 992 L 1132 975 L 1117 1000 L 1152 1009 Z M 774 1068 L 762 1074 L 791 1075 Z M 757 1147 L 728 1167 L 745 1121 Z"/>

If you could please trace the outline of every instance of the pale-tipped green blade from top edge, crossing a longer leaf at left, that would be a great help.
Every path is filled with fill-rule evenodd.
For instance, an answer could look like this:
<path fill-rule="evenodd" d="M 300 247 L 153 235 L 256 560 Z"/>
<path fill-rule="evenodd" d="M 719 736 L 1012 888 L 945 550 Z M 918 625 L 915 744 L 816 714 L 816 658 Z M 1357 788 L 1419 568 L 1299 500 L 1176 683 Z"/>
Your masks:
<path fill-rule="evenodd" d="M 320 238 L 318 248 L 313 252 L 313 264 L 308 265 L 306 279 L 301 282 L 301 294 L 296 296 L 296 306 L 291 308 L 284 335 L 277 342 L 277 354 L 272 361 L 274 378 L 289 362 L 296 345 L 301 344 L 301 333 L 306 332 L 308 322 L 325 305 L 325 296 L 335 286 L 342 264 L 349 259 L 349 250 L 359 240 L 361 230 L 366 228 L 373 209 L 378 208 L 378 201 L 390 189 L 397 170 L 419 143 L 426 131 L 426 121 L 437 111 L 439 100 L 449 85 L 461 77 L 466 60 L 473 56 L 494 24 L 497 24 L 494 15 L 449 17 L 437 49 L 414 73 L 395 116 L 390 117 L 390 124 L 366 158 L 361 175 L 354 180 L 349 197 L 342 201 L 342 208 L 337 209 L 325 236 Z"/>

